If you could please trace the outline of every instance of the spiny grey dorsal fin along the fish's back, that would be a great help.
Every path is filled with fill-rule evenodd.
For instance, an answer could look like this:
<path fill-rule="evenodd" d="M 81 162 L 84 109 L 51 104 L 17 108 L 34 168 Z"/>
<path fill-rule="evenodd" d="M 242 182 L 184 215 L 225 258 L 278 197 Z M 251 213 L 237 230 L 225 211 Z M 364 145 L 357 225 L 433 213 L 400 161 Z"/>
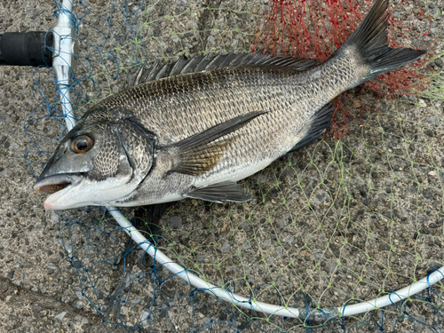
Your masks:
<path fill-rule="evenodd" d="M 140 83 L 147 83 L 155 81 L 163 77 L 198 73 L 204 70 L 224 68 L 224 67 L 241 67 L 241 66 L 276 66 L 276 67 L 291 67 L 303 71 L 307 68 L 313 67 L 317 64 L 313 59 L 294 59 L 292 57 L 274 57 L 269 58 L 268 54 L 262 53 L 219 53 L 217 56 L 209 57 L 194 56 L 192 59 L 187 59 L 186 56 L 180 57 L 177 61 L 159 66 L 155 64 L 153 68 L 136 68 L 132 71 L 125 83 L 125 89 Z"/>

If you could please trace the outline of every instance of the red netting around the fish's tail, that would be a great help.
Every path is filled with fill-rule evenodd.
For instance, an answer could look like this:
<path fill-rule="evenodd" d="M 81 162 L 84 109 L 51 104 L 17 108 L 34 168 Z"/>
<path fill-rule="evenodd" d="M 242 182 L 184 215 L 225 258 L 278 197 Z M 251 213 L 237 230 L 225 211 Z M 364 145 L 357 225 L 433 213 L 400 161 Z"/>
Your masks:
<path fill-rule="evenodd" d="M 298 59 L 325 61 L 357 28 L 373 3 L 374 0 L 360 3 L 356 0 L 270 0 L 258 22 L 253 52 L 261 49 L 272 55 L 282 53 Z M 397 5 L 390 5 L 388 20 L 390 46 L 415 48 L 411 41 L 419 41 L 420 48 L 432 52 L 435 41 L 429 37 L 432 18 L 424 16 L 419 1 L 400 1 Z M 424 31 L 424 21 L 429 22 L 428 31 Z M 412 95 L 424 91 L 427 76 L 418 69 L 424 67 L 426 61 L 419 59 L 407 67 L 379 75 L 365 83 L 365 89 L 377 95 Z M 344 101 L 341 97 L 335 99 L 337 107 L 331 129 L 337 139 L 347 132 L 350 117 L 362 123 L 362 103 L 357 99 L 353 103 L 345 104 Z M 356 107 L 361 108 L 359 115 L 353 111 Z"/>

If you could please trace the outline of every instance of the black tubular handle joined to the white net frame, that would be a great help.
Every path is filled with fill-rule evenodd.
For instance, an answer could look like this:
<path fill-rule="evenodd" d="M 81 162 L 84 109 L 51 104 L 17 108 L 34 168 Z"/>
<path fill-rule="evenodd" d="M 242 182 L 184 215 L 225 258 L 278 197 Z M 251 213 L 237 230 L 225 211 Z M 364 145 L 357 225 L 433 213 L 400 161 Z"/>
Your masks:
<path fill-rule="evenodd" d="M 52 66 L 52 33 L 6 32 L 0 36 L 0 65 Z M 48 47 L 47 47 L 48 46 Z"/>

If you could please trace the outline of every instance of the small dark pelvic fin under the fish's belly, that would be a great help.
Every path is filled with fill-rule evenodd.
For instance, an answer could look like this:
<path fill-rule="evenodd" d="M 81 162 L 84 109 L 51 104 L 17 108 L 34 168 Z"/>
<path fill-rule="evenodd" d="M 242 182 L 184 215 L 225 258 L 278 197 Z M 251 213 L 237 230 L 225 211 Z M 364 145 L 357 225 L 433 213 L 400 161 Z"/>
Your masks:
<path fill-rule="evenodd" d="M 196 188 L 194 191 L 183 194 L 188 198 L 202 199 L 207 202 L 248 202 L 251 200 L 249 194 L 243 192 L 242 188 L 234 181 L 223 181 L 218 184 Z"/>

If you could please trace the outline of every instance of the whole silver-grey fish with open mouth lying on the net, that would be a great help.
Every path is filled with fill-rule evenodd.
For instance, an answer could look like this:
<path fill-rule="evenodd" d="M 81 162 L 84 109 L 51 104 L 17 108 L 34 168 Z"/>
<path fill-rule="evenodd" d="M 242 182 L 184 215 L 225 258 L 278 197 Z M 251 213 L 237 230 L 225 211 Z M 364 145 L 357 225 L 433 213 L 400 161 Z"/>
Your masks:
<path fill-rule="evenodd" d="M 34 186 L 44 208 L 249 201 L 238 181 L 318 139 L 332 99 L 425 53 L 388 46 L 387 7 L 322 63 L 229 53 L 142 68 L 61 139 Z"/>

